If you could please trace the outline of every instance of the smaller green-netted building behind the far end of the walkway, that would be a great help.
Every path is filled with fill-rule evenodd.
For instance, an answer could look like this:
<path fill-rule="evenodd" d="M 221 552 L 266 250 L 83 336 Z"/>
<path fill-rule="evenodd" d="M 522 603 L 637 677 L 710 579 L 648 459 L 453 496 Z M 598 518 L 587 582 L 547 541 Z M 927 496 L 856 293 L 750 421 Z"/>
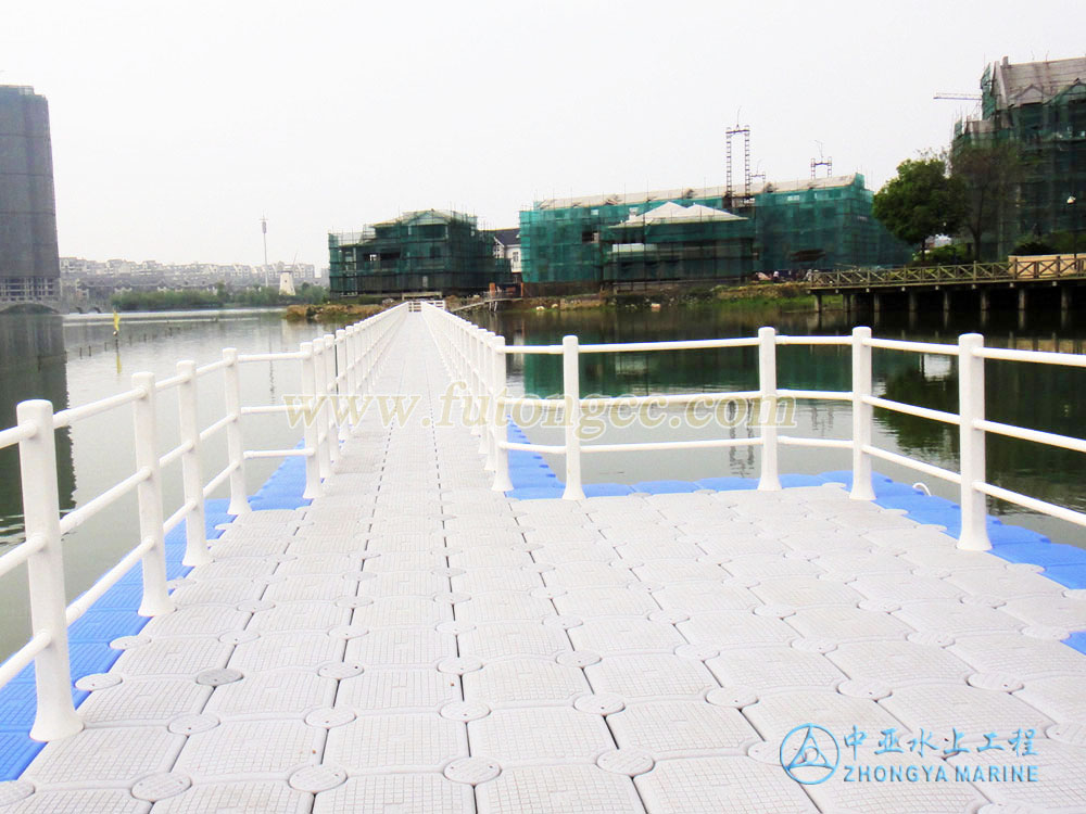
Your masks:
<path fill-rule="evenodd" d="M 470 294 L 508 285 L 509 260 L 473 215 L 408 212 L 359 232 L 328 236 L 332 296 L 440 292 Z"/>

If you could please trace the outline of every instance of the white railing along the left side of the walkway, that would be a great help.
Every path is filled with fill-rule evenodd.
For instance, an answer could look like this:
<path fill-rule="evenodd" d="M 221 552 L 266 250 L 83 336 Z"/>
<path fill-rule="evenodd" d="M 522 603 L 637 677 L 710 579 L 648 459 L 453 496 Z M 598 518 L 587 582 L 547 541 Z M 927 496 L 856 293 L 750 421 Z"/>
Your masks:
<path fill-rule="evenodd" d="M 0 557 L 0 576 L 23 562 L 27 565 L 30 596 L 29 641 L 0 665 L 0 686 L 35 663 L 37 712 L 30 737 L 36 740 L 62 738 L 83 728 L 83 721 L 72 702 L 67 627 L 79 619 L 105 592 L 137 563 L 142 564 L 143 594 L 140 615 L 155 616 L 174 610 L 166 586 L 165 536 L 186 522 L 182 563 L 199 565 L 211 561 L 204 521 L 204 501 L 228 484 L 228 513 L 250 511 L 245 494 L 244 462 L 252 458 L 303 456 L 305 458 L 304 497 L 318 497 L 321 480 L 331 471 L 339 456 L 340 441 L 351 431 L 353 410 L 337 409 L 336 398 L 353 398 L 367 392 L 378 365 L 406 317 L 407 306 L 400 305 L 368 319 L 303 342 L 296 352 L 239 354 L 223 351 L 222 359 L 197 367 L 189 360 L 177 363 L 177 374 L 155 380 L 153 373 L 136 373 L 132 389 L 115 396 L 53 412 L 50 402 L 36 399 L 16 407 L 15 427 L 0 430 L 0 448 L 18 445 L 20 479 L 23 495 L 25 539 Z M 239 377 L 241 365 L 251 363 L 296 361 L 301 365 L 301 404 L 242 406 Z M 225 415 L 200 429 L 197 419 L 198 387 L 202 380 L 223 371 Z M 176 389 L 180 443 L 164 455 L 159 454 L 156 398 Z M 136 471 L 97 497 L 61 516 L 59 499 L 55 431 L 72 427 L 91 416 L 132 406 L 136 446 Z M 242 417 L 264 414 L 308 411 L 304 420 L 304 443 L 296 449 L 245 449 Z M 204 481 L 200 467 L 200 447 L 225 432 L 228 461 L 213 478 Z M 181 505 L 164 518 L 162 472 L 180 461 L 184 489 Z M 119 562 L 105 572 L 71 605 L 64 586 L 64 561 L 61 540 L 91 517 L 135 491 L 139 512 L 139 543 Z"/>

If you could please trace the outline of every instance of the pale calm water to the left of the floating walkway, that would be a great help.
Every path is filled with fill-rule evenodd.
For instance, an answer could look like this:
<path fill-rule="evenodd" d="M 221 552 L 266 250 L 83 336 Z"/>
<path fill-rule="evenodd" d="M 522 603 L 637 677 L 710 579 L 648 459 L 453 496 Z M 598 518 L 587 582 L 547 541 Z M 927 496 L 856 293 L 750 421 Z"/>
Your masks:
<path fill-rule="evenodd" d="M 190 315 L 125 315 L 118 342 L 110 316 L 0 314 L 0 427 L 15 423 L 15 405 L 26 398 L 48 398 L 55 409 L 86 404 L 127 390 L 132 373 L 150 370 L 159 378 L 176 373 L 178 359 L 198 364 L 220 358 L 224 347 L 242 353 L 296 351 L 312 339 L 314 326 L 283 321 L 278 313 L 220 311 Z M 281 402 L 296 393 L 299 364 L 251 364 L 241 367 L 243 404 Z M 200 380 L 200 421 L 206 427 L 225 411 L 222 373 Z M 160 454 L 176 446 L 176 391 L 160 394 Z M 130 407 L 111 410 L 56 433 L 62 510 L 86 503 L 135 471 Z M 247 448 L 289 447 L 300 430 L 281 416 L 243 420 Z M 118 431 L 119 429 L 119 431 Z M 222 435 L 216 441 L 223 441 Z M 202 450 L 204 480 L 226 465 L 222 443 Z M 20 485 L 15 448 L 0 450 L 0 552 L 22 538 Z M 248 461 L 250 494 L 260 488 L 278 460 Z M 165 514 L 180 504 L 180 467 L 163 472 Z M 225 487 L 216 497 L 225 497 Z M 138 540 L 135 494 L 114 504 L 64 538 L 65 577 L 71 597 L 84 592 Z M 10 652 L 27 635 L 26 576 L 21 568 L 0 580 L 0 652 Z"/>

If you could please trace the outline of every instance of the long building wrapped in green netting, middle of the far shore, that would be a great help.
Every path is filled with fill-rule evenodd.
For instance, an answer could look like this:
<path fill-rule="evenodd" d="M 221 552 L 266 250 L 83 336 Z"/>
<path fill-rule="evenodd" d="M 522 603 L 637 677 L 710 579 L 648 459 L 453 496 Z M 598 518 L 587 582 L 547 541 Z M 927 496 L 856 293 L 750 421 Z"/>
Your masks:
<path fill-rule="evenodd" d="M 541 201 L 520 213 L 523 282 L 533 293 L 715 284 L 908 260 L 872 198 L 854 174 Z"/>

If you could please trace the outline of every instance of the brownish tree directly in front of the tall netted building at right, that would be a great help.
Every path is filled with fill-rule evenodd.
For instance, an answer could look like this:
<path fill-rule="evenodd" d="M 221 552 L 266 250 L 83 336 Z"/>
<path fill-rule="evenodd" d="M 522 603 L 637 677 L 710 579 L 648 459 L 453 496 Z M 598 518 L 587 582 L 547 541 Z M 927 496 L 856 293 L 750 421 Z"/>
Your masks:
<path fill-rule="evenodd" d="M 981 239 L 996 231 L 1002 213 L 1013 204 L 1022 167 L 1022 156 L 1010 142 L 972 143 L 950 154 L 950 178 L 964 202 L 961 225 L 973 241 L 976 259 L 985 259 Z"/>

